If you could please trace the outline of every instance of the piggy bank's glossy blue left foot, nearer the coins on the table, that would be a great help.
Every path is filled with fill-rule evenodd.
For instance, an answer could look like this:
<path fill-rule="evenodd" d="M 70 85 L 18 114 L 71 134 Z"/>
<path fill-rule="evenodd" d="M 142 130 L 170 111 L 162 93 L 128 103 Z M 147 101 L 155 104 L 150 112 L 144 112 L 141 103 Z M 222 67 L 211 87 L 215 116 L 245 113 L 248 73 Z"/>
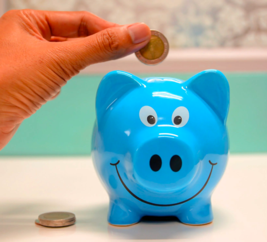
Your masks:
<path fill-rule="evenodd" d="M 108 222 L 115 226 L 129 226 L 140 221 L 141 215 L 120 200 L 110 200 Z"/>

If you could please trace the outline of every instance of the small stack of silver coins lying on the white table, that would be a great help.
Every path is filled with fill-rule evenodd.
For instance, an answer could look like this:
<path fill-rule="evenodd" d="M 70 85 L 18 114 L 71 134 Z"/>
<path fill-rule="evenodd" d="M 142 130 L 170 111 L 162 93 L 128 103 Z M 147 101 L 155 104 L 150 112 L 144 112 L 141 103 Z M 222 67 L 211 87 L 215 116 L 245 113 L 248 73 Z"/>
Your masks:
<path fill-rule="evenodd" d="M 75 214 L 71 212 L 47 212 L 38 217 L 39 224 L 50 227 L 68 226 L 74 224 L 75 219 Z"/>

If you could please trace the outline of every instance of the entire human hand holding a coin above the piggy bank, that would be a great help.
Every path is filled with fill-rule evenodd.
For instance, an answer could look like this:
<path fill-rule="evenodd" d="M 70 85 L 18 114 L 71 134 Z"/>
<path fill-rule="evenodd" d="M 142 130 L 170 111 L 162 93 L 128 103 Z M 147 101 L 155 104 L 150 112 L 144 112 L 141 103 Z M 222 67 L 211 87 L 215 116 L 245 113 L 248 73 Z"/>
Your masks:
<path fill-rule="evenodd" d="M 0 30 L 0 150 L 80 70 L 150 40 L 143 23 L 121 26 L 88 12 L 13 10 L 0 18 Z"/>

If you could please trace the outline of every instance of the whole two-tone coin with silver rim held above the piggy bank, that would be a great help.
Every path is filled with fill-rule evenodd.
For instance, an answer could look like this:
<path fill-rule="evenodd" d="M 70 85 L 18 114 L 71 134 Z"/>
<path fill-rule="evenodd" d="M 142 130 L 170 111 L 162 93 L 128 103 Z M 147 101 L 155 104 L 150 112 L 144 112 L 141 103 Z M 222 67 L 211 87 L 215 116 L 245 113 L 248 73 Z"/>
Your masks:
<path fill-rule="evenodd" d="M 167 57 L 169 44 L 167 38 L 157 30 L 151 30 L 150 42 L 135 52 L 139 61 L 147 65 L 156 65 Z"/>

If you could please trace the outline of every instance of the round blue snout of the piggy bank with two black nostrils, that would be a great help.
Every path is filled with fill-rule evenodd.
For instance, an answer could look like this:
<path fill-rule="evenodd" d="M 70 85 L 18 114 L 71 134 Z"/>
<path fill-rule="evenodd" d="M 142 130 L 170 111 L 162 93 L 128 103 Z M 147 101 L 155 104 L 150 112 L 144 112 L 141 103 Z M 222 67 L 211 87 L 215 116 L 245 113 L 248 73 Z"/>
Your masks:
<path fill-rule="evenodd" d="M 158 136 L 134 155 L 134 177 L 148 190 L 169 192 L 188 185 L 197 172 L 197 152 L 179 138 Z"/>

